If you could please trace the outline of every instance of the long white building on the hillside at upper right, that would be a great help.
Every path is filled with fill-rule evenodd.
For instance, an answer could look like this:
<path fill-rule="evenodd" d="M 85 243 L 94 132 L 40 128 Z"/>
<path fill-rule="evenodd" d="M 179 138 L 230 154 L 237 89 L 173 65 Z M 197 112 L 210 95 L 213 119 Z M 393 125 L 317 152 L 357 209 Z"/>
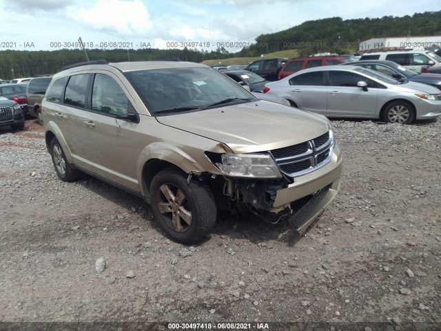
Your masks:
<path fill-rule="evenodd" d="M 384 37 L 373 38 L 360 43 L 358 52 L 380 50 L 424 50 L 431 46 L 441 47 L 441 36 Z"/>

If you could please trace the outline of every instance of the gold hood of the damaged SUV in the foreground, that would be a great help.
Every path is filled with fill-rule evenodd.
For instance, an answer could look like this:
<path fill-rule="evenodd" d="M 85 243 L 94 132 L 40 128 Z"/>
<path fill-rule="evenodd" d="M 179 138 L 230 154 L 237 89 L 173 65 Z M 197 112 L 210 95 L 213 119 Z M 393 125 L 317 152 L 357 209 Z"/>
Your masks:
<path fill-rule="evenodd" d="M 236 153 L 291 146 L 331 128 L 329 121 L 318 114 L 262 100 L 156 119 L 166 126 L 225 143 Z"/>

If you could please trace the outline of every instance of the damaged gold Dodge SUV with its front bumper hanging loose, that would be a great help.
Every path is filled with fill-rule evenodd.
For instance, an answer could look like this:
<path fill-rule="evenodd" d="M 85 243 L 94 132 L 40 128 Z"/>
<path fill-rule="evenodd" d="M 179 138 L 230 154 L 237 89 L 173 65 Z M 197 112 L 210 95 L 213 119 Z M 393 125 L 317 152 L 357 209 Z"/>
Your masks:
<path fill-rule="evenodd" d="M 79 63 L 54 75 L 42 115 L 63 181 L 86 172 L 142 197 L 182 243 L 208 234 L 218 210 L 305 232 L 340 187 L 325 117 L 197 63 Z"/>

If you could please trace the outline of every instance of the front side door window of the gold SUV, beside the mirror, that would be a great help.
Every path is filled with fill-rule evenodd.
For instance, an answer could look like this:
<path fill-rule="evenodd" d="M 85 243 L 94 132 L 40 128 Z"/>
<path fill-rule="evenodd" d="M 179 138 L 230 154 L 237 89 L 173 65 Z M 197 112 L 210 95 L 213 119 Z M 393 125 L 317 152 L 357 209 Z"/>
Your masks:
<path fill-rule="evenodd" d="M 92 110 L 127 116 L 129 101 L 116 81 L 107 74 L 96 74 L 92 90 Z"/>

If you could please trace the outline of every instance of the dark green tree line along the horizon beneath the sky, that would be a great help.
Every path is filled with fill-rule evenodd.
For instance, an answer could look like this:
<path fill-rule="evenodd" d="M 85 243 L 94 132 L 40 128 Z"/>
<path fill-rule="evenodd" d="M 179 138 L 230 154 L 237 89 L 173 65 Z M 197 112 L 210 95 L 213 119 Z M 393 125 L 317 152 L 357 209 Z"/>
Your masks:
<path fill-rule="evenodd" d="M 256 37 L 256 43 L 239 52 L 231 53 L 225 48 L 207 50 L 159 50 L 144 48 L 138 50 L 88 50 L 92 60 L 105 59 L 109 62 L 152 61 L 179 59 L 201 62 L 207 59 L 228 57 L 258 57 L 260 54 L 287 49 L 299 49 L 301 56 L 314 52 L 336 52 L 345 54 L 356 52 L 358 44 L 371 38 L 400 36 L 441 35 L 441 10 L 438 12 L 416 13 L 404 17 L 384 16 L 378 19 L 347 19 L 331 17 L 306 21 L 298 26 Z M 85 61 L 85 54 L 79 49 L 52 51 L 0 51 L 0 79 L 35 77 L 39 74 L 53 74 L 64 66 Z"/>

